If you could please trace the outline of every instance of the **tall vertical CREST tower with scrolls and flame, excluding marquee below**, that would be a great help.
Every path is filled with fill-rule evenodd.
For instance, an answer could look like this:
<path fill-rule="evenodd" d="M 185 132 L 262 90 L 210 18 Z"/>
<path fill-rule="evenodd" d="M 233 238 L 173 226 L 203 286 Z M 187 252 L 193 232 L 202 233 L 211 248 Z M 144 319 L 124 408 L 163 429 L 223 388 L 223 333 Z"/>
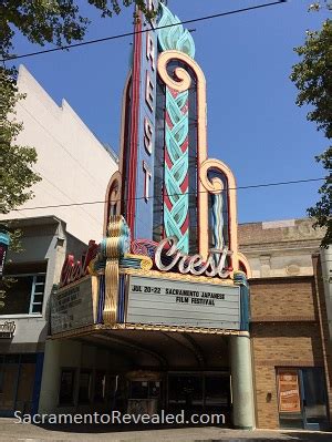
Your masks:
<path fill-rule="evenodd" d="M 134 239 L 175 237 L 178 248 L 207 258 L 238 254 L 236 183 L 229 167 L 207 156 L 206 81 L 191 34 L 157 1 L 156 22 L 141 16 L 122 116 L 120 172 L 110 184 L 105 219 L 123 215 Z M 155 29 L 158 28 L 158 29 Z M 149 29 L 148 32 L 142 32 Z"/>

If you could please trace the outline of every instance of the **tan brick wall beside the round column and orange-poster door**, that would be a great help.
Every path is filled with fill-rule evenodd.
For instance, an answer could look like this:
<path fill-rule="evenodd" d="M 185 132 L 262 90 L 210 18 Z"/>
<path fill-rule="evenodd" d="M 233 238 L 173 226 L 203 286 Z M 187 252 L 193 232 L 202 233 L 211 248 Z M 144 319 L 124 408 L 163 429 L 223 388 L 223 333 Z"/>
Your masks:
<path fill-rule="evenodd" d="M 313 277 L 250 281 L 258 428 L 279 428 L 277 367 L 324 367 Z"/>

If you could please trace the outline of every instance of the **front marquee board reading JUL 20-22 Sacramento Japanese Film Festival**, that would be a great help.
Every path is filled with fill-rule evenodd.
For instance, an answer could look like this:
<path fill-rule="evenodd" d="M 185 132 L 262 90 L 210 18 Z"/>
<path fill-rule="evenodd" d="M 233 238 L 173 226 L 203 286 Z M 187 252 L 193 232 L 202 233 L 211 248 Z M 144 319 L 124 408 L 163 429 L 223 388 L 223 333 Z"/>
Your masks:
<path fill-rule="evenodd" d="M 240 287 L 129 277 L 126 321 L 240 329 Z"/>

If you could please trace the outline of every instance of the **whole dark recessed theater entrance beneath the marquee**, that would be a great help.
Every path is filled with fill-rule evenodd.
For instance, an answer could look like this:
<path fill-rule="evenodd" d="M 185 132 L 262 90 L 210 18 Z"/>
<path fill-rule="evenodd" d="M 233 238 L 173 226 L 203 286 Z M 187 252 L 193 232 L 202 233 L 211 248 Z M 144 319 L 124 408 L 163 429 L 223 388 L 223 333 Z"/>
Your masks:
<path fill-rule="evenodd" d="M 241 398 L 251 388 L 246 336 L 102 329 L 46 345 L 52 367 L 56 360 L 59 373 L 71 370 L 71 404 L 76 412 L 89 405 L 94 411 L 131 414 L 222 414 L 222 424 L 232 426 L 234 417 L 241 412 Z M 52 384 L 52 398 L 61 397 L 54 376 L 43 381 Z M 43 412 L 62 410 L 50 395 L 41 398 Z"/>

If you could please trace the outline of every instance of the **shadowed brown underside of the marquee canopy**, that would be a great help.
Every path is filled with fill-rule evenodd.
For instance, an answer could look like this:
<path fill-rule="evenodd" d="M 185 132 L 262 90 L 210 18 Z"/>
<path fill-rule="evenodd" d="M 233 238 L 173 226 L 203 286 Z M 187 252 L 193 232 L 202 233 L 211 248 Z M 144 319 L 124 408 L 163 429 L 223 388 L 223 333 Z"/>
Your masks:
<path fill-rule="evenodd" d="M 193 331 L 127 328 L 81 331 L 68 338 L 112 350 L 135 369 L 220 370 L 229 368 L 229 337 Z M 235 335 L 230 332 L 229 335 Z M 62 333 L 61 338 L 64 338 Z M 53 337 L 56 339 L 56 336 Z"/>

